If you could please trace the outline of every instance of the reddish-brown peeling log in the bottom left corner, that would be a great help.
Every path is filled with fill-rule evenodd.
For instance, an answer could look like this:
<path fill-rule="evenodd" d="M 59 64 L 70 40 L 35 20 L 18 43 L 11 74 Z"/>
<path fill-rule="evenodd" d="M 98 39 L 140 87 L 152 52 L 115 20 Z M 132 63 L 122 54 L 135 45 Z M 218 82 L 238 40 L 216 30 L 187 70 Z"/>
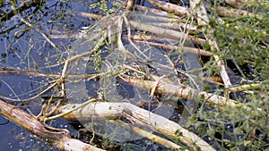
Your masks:
<path fill-rule="evenodd" d="M 20 108 L 10 105 L 3 100 L 0 100 L 0 114 L 23 129 L 30 131 L 34 135 L 40 138 L 48 138 L 52 144 L 56 145 L 61 150 L 102 150 L 100 148 L 83 143 L 80 140 L 71 138 L 68 130 L 56 129 L 48 126 L 46 123 L 39 122 L 33 115 L 25 113 Z"/>

